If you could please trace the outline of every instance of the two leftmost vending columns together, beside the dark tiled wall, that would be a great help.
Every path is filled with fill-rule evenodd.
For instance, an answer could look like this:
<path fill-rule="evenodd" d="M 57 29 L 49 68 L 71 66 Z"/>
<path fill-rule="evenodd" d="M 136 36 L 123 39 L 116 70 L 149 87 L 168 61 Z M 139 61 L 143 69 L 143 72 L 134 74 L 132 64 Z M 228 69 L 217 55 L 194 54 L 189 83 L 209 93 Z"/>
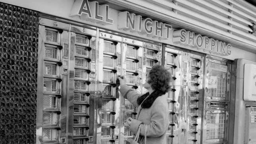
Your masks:
<path fill-rule="evenodd" d="M 40 18 L 37 144 L 93 143 L 96 34 Z"/>

